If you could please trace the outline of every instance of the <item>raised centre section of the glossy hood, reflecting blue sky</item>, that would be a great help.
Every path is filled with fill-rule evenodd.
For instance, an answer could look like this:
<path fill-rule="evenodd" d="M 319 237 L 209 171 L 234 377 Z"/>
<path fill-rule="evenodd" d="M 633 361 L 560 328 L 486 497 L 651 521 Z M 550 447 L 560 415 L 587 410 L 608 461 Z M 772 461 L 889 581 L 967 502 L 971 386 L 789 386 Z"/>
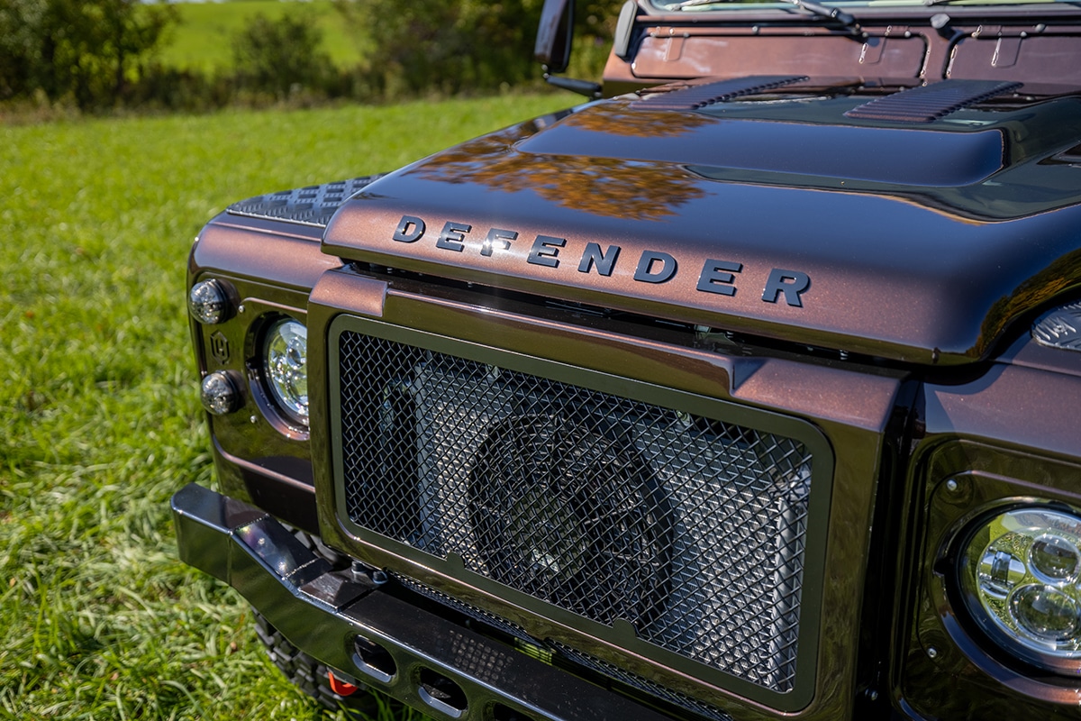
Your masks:
<path fill-rule="evenodd" d="M 680 165 L 706 176 L 719 169 L 929 188 L 985 181 L 1002 169 L 1004 144 L 995 128 L 947 132 L 696 112 L 666 118 L 609 104 L 573 115 L 515 149 L 537 162 L 592 158 Z"/>

